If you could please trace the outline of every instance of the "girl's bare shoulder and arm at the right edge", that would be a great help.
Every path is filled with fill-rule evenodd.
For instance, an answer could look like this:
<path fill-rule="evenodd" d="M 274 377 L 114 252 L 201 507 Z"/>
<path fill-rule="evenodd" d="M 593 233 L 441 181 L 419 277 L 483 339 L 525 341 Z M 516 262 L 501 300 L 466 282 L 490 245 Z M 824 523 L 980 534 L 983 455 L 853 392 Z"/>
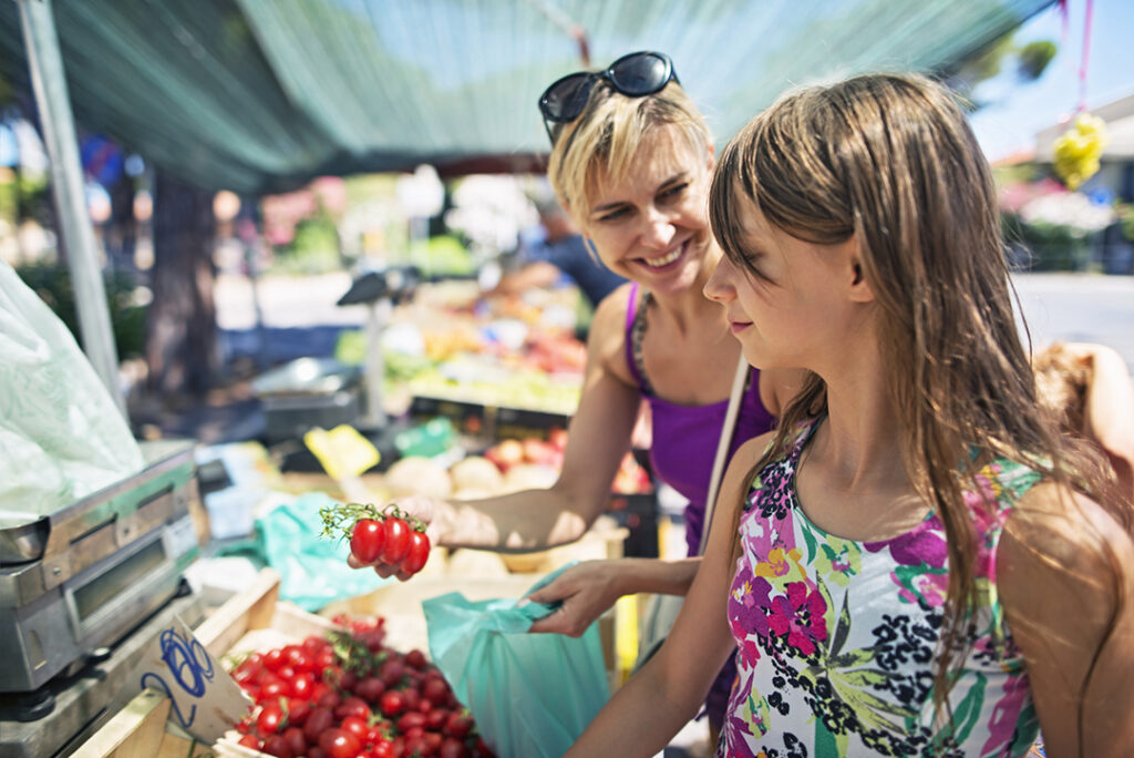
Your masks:
<path fill-rule="evenodd" d="M 997 575 L 1047 755 L 1128 756 L 1134 744 L 1131 536 L 1098 503 L 1039 485 L 1008 517 Z"/>

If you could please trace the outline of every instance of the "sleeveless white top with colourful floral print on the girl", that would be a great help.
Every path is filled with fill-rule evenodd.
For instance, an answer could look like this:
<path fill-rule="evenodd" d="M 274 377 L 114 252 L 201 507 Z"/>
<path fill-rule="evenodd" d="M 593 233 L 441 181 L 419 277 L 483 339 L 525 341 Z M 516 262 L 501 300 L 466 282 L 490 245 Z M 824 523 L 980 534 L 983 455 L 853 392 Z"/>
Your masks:
<path fill-rule="evenodd" d="M 717 755 L 1024 756 L 1039 722 L 1024 659 L 1004 622 L 996 553 L 1013 504 L 1040 479 L 997 460 L 978 481 L 975 631 L 934 730 L 934 651 L 948 586 L 945 528 L 930 514 L 894 539 L 828 534 L 799 508 L 795 471 L 819 421 L 769 464 L 746 496 L 743 549 L 728 601 L 737 680 Z M 942 736 L 946 735 L 946 736 Z"/>

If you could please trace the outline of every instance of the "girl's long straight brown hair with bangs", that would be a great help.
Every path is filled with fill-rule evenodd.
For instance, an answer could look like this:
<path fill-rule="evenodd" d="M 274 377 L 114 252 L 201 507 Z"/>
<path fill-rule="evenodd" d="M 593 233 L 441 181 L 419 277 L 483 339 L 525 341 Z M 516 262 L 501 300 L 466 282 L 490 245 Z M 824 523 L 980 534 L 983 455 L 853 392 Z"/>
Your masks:
<path fill-rule="evenodd" d="M 948 541 L 933 705 L 950 723 L 950 669 L 967 650 L 978 605 L 976 534 L 963 499 L 965 490 L 981 491 L 975 474 L 995 456 L 1025 463 L 1094 497 L 1127 532 L 1131 504 L 1101 458 L 1060 436 L 1036 403 L 1013 318 L 991 172 L 946 90 L 921 76 L 882 74 L 786 95 L 731 140 L 710 191 L 713 234 L 746 270 L 742 203 L 755 203 L 770 224 L 803 241 L 857 238 L 902 421 L 903 464 Z M 801 422 L 826 409 L 826 385 L 811 374 L 748 481 L 787 449 Z M 1115 556 L 1108 559 L 1120 587 L 1128 579 Z"/>

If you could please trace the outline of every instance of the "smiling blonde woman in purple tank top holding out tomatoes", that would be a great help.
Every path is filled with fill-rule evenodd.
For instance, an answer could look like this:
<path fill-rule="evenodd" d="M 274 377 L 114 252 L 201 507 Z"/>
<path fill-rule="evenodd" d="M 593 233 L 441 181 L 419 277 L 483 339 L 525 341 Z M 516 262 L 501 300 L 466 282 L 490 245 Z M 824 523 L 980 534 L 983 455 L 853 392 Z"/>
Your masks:
<path fill-rule="evenodd" d="M 741 360 L 723 313 L 702 293 L 721 256 L 709 231 L 709 128 L 670 59 L 649 51 L 624 56 L 600 73 L 555 82 L 540 108 L 553 145 L 548 178 L 556 194 L 602 263 L 631 281 L 595 311 L 583 394 L 570 421 L 562 473 L 552 487 L 474 502 L 401 505 L 432 522 L 434 544 L 534 550 L 575 540 L 607 509 L 645 399 L 653 470 L 689 500 L 686 541 L 695 556 Z M 775 426 L 797 381 L 789 370 L 751 372 L 730 453 Z M 581 564 L 532 596 L 564 601 L 532 631 L 577 635 L 623 595 L 682 595 L 699 563 Z M 392 573 L 387 565 L 375 568 Z M 729 673 L 720 677 L 710 704 L 710 722 L 718 726 L 730 681 Z"/>

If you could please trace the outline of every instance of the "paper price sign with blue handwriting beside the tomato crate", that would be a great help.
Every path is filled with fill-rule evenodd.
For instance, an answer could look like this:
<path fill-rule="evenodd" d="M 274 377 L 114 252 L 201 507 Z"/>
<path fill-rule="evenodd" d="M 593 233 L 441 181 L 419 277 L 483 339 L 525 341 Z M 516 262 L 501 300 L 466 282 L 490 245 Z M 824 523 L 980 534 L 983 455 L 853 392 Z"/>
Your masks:
<path fill-rule="evenodd" d="M 172 699 L 169 719 L 210 744 L 252 706 L 240 685 L 177 616 L 146 648 L 134 681 Z"/>

